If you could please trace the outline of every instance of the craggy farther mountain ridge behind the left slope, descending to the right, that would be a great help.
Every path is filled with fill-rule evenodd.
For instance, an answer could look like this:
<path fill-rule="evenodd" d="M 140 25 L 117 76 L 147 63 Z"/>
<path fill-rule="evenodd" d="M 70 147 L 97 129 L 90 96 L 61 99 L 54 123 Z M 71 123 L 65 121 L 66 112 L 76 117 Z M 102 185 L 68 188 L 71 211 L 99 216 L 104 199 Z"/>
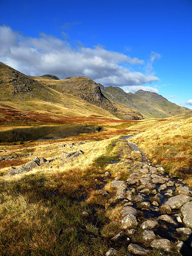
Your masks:
<path fill-rule="evenodd" d="M 69 77 L 63 80 L 53 80 L 43 76 L 33 78 L 47 84 L 54 90 L 62 93 L 67 92 L 103 109 L 108 109 L 113 115 L 125 120 L 128 119 L 126 112 L 129 113 L 133 110 L 141 113 L 144 118 L 166 118 L 189 110 L 154 92 L 138 90 L 135 93 L 126 93 L 120 87 L 104 87 L 87 77 Z M 132 119 L 136 118 L 132 116 Z"/>

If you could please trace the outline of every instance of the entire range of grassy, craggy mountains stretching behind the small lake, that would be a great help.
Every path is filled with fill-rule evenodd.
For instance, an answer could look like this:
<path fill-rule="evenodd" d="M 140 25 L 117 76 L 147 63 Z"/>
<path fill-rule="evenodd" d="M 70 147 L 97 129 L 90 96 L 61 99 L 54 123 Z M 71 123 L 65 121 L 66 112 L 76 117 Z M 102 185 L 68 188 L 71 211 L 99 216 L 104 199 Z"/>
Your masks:
<path fill-rule="evenodd" d="M 62 80 L 50 74 L 31 77 L 2 62 L 0 108 L 4 111 L 8 108 L 10 112 L 12 108 L 27 113 L 36 111 L 51 118 L 99 115 L 122 120 L 166 118 L 189 110 L 154 92 L 138 90 L 134 94 L 126 93 L 120 87 L 104 87 L 87 77 L 67 77 Z M 5 116 L 2 113 L 0 111 L 0 118 L 5 121 L 8 114 Z"/>

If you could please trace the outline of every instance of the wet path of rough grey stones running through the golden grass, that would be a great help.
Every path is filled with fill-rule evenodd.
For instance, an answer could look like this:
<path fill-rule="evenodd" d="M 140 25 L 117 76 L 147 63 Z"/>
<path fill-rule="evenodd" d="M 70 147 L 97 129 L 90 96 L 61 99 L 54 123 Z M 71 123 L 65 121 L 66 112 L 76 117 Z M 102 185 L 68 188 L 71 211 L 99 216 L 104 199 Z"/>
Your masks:
<path fill-rule="evenodd" d="M 124 143 L 125 148 L 131 147 Z M 191 256 L 192 191 L 182 179 L 166 175 L 162 166 L 151 166 L 143 154 L 141 158 L 129 158 L 133 172 L 126 181 L 115 178 L 111 182 L 116 200 L 123 204 L 122 231 L 110 240 L 106 256 L 118 255 L 120 243 L 128 244 L 127 255 L 147 255 L 156 248 L 163 251 L 161 255 Z M 109 172 L 105 175 L 110 177 Z M 138 244 L 136 236 L 141 238 Z"/>

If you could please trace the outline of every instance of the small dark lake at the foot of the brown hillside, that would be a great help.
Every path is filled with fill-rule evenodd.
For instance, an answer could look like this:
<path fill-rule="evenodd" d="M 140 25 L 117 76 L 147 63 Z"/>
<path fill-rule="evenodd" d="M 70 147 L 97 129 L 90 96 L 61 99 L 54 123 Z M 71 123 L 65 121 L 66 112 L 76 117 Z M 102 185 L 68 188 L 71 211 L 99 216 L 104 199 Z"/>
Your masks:
<path fill-rule="evenodd" d="M 16 128 L 0 132 L 0 142 L 57 140 L 81 133 L 101 131 L 100 126 L 93 125 L 63 125 L 63 126 L 36 126 L 30 128 Z"/>

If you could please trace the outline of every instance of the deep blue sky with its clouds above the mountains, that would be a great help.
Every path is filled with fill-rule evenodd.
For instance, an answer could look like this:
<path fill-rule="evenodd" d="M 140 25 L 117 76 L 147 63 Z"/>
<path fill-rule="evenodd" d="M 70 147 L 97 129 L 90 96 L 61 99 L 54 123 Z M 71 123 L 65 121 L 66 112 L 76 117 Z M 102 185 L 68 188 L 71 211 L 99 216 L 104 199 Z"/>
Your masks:
<path fill-rule="evenodd" d="M 0 61 L 192 109 L 192 0 L 0 0 Z"/>

